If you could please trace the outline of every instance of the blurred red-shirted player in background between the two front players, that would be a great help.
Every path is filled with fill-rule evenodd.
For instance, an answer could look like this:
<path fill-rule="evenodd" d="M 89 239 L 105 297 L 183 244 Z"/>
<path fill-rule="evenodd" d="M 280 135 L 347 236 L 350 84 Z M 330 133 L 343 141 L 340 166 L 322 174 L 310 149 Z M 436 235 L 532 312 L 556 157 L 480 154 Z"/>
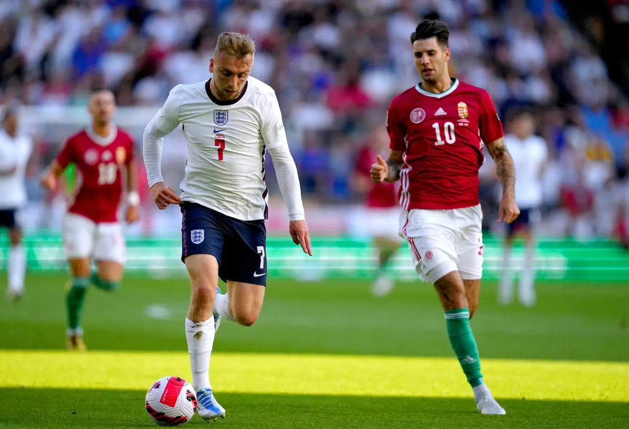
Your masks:
<path fill-rule="evenodd" d="M 386 129 L 378 126 L 369 136 L 369 143 L 359 150 L 353 174 L 354 187 L 364 194 L 365 205 L 350 217 L 349 230 L 358 237 L 374 240 L 378 258 L 372 284 L 374 296 L 384 296 L 393 289 L 394 282 L 387 274 L 387 267 L 401 242 L 398 226 L 399 186 L 392 182 L 374 183 L 370 175 L 374 159 L 388 146 Z"/>

